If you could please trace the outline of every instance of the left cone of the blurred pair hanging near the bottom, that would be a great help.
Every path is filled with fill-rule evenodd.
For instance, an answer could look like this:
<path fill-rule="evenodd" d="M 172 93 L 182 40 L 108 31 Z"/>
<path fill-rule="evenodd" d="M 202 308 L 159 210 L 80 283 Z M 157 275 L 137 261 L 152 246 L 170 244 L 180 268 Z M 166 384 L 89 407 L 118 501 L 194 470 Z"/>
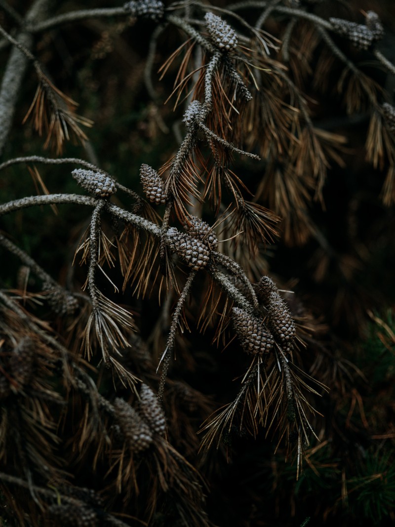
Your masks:
<path fill-rule="evenodd" d="M 124 438 L 129 442 L 130 450 L 134 453 L 146 450 L 152 443 L 150 427 L 123 399 L 115 399 L 114 409 L 116 421 Z"/>

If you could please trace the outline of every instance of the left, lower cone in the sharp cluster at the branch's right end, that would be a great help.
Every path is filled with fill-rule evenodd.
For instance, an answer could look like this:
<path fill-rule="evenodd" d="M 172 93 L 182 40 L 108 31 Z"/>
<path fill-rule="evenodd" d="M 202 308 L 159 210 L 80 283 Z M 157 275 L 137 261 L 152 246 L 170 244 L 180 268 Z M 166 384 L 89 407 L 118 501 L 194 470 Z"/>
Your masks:
<path fill-rule="evenodd" d="M 270 353 L 273 347 L 273 337 L 258 318 L 240 307 L 232 308 L 233 328 L 239 337 L 240 344 L 249 355 L 264 355 Z"/>

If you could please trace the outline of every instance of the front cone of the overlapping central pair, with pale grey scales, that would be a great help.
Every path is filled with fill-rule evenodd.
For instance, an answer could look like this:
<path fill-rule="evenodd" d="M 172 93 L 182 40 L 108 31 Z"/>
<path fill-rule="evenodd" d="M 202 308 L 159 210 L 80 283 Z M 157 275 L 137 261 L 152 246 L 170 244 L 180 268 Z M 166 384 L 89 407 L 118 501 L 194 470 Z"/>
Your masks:
<path fill-rule="evenodd" d="M 207 265 L 210 251 L 202 241 L 180 232 L 175 227 L 171 227 L 166 232 L 165 239 L 170 249 L 181 256 L 195 271 Z"/>

